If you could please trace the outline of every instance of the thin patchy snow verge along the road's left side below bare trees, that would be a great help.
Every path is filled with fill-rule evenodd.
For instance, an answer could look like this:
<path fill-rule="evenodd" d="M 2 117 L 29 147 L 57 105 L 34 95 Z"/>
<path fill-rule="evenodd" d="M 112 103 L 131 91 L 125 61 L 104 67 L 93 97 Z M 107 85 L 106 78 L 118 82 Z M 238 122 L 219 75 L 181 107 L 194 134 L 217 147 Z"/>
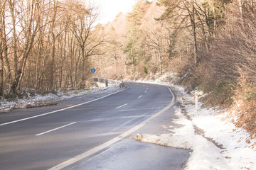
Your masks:
<path fill-rule="evenodd" d="M 115 91 L 118 89 L 119 81 L 111 81 L 108 87 L 105 88 L 90 88 L 90 89 L 78 89 L 78 90 L 68 90 L 66 92 L 58 91 L 56 94 L 29 94 L 27 98 L 19 99 L 17 98 L 15 101 L 3 101 L 0 105 L 0 113 L 7 112 L 11 109 L 17 108 L 33 108 L 40 106 L 50 106 L 58 104 L 58 101 L 73 98 L 75 96 L 80 96 L 84 94 L 92 94 L 98 91 Z M 116 83 L 116 84 L 114 84 Z"/>

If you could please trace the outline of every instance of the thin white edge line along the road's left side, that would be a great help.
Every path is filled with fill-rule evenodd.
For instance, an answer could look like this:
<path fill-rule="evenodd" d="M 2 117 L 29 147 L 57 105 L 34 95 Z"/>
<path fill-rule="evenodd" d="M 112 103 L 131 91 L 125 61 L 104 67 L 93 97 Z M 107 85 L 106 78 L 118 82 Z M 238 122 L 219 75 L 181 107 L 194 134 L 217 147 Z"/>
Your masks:
<path fill-rule="evenodd" d="M 125 90 L 125 89 L 122 89 L 121 91 L 124 91 L 124 90 Z M 48 113 L 43 113 L 43 114 L 41 114 L 41 115 L 35 115 L 35 116 L 29 117 L 29 118 L 23 118 L 23 119 L 14 120 L 14 121 L 11 121 L 11 122 L 8 122 L 8 123 L 2 123 L 2 124 L 0 124 L 0 126 L 9 125 L 9 124 L 12 124 L 12 123 L 18 123 L 18 122 L 21 122 L 21 121 L 24 121 L 24 120 L 29 120 L 29 119 L 32 119 L 32 118 L 38 118 L 38 117 L 41 117 L 41 116 L 43 116 L 43 115 L 50 115 L 50 114 L 52 114 L 52 113 L 56 113 L 56 112 L 60 112 L 60 111 L 65 111 L 65 110 L 68 110 L 68 109 L 70 109 L 70 108 L 75 108 L 75 107 L 78 107 L 78 106 L 85 105 L 85 104 L 87 104 L 87 103 L 91 103 L 91 102 L 93 102 L 93 101 L 98 101 L 98 100 L 100 100 L 100 99 L 102 99 L 102 98 L 106 98 L 106 97 L 111 96 L 111 95 L 113 95 L 113 94 L 117 94 L 117 93 L 119 93 L 119 92 L 121 92 L 121 91 L 116 91 L 116 92 L 114 92 L 114 93 L 112 93 L 112 94 L 108 94 L 108 95 L 106 95 L 106 96 L 102 96 L 102 97 L 100 97 L 100 98 L 96 98 L 96 99 L 94 99 L 94 100 L 92 100 L 92 101 L 87 101 L 87 102 L 85 102 L 85 103 L 80 103 L 80 104 L 78 104 L 78 105 L 70 106 L 70 107 L 68 107 L 68 108 L 62 108 L 62 109 L 57 110 L 57 111 L 51 111 L 51 112 L 48 112 Z"/>

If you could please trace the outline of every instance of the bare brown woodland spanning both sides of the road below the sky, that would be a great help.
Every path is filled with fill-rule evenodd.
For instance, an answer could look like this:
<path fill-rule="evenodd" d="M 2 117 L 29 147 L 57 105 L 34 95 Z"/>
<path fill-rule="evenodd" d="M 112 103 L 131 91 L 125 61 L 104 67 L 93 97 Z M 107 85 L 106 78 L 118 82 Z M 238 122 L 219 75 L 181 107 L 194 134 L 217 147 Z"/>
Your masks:
<path fill-rule="evenodd" d="M 256 132 L 256 1 L 138 0 L 132 12 L 97 23 L 92 1 L 1 0 L 0 96 L 90 86 L 173 72 L 208 106 L 235 110 Z M 254 136 L 253 136 L 254 135 Z"/>

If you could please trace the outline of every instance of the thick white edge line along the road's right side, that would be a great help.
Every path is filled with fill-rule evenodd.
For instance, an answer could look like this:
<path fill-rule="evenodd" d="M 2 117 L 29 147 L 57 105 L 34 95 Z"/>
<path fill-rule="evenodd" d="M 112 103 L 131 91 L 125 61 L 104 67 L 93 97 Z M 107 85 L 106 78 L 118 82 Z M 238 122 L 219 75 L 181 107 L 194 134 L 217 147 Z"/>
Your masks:
<path fill-rule="evenodd" d="M 169 88 L 169 87 L 168 87 Z M 50 168 L 48 170 L 59 170 L 59 169 L 63 169 L 67 166 L 70 166 L 71 164 L 74 164 L 75 162 L 80 161 L 81 159 L 85 159 L 86 157 L 89 157 L 91 154 L 95 154 L 96 152 L 100 152 L 100 150 L 104 149 L 105 147 L 109 147 L 110 145 L 114 144 L 115 142 L 118 142 L 119 140 L 124 139 L 124 137 L 127 137 L 128 135 L 130 135 L 132 132 L 135 132 L 136 130 L 139 130 L 139 128 L 142 128 L 144 125 L 146 125 L 147 123 L 149 123 L 151 120 L 153 120 L 154 118 L 158 117 L 159 115 L 161 115 L 162 113 L 164 113 L 165 111 L 167 111 L 169 108 L 171 108 L 171 106 L 174 105 L 174 100 L 175 100 L 175 95 L 174 93 L 171 91 L 171 89 L 169 88 L 169 91 L 171 92 L 171 94 L 173 95 L 173 98 L 171 100 L 171 103 L 169 103 L 168 106 L 166 106 L 166 108 L 164 108 L 163 110 L 159 111 L 159 113 L 156 113 L 155 115 L 152 115 L 150 118 L 148 118 L 147 120 L 144 120 L 142 123 L 140 123 L 139 125 L 135 126 L 134 128 L 128 130 L 127 132 L 124 132 L 122 135 L 119 135 L 118 137 L 114 137 L 114 139 L 109 140 L 108 142 L 105 142 L 104 144 L 97 146 L 93 149 L 90 149 L 87 152 L 84 152 L 80 155 L 78 155 L 77 157 L 73 157 L 71 159 L 69 159 L 66 162 L 63 162 L 61 164 L 58 164 L 57 166 L 54 166 L 53 168 Z"/>

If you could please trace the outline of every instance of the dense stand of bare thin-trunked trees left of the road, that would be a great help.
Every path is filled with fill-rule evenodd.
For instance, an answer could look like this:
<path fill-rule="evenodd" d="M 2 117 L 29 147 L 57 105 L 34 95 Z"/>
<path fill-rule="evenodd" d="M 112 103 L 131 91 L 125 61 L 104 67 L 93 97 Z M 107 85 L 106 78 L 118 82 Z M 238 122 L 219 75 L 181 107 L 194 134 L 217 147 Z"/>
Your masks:
<path fill-rule="evenodd" d="M 87 86 L 88 58 L 104 53 L 98 15 L 84 1 L 1 1 L 1 96 Z"/>

